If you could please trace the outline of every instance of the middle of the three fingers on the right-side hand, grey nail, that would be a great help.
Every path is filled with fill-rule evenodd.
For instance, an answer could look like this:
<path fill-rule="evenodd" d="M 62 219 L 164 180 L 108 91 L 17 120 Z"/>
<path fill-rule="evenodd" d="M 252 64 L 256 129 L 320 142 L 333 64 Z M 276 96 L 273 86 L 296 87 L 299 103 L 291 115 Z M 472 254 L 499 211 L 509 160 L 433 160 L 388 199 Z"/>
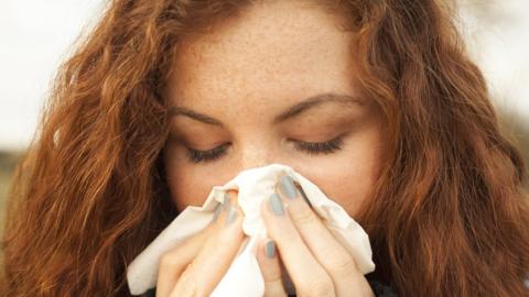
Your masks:
<path fill-rule="evenodd" d="M 272 194 L 264 199 L 261 211 L 268 234 L 276 241 L 296 294 L 299 296 L 335 296 L 331 276 L 303 242 L 282 205 L 281 197 Z"/>

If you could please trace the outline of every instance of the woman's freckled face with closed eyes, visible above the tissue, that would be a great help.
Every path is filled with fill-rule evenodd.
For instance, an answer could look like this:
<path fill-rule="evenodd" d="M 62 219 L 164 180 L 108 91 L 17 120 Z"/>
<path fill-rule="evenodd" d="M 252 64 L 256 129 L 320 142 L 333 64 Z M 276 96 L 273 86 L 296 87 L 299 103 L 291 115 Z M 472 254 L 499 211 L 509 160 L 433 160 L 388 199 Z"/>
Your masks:
<path fill-rule="evenodd" d="M 164 161 L 179 210 L 203 205 L 244 169 L 282 163 L 355 217 L 378 176 L 384 136 L 353 86 L 352 33 L 336 24 L 302 1 L 267 1 L 183 41 L 165 90 Z"/>

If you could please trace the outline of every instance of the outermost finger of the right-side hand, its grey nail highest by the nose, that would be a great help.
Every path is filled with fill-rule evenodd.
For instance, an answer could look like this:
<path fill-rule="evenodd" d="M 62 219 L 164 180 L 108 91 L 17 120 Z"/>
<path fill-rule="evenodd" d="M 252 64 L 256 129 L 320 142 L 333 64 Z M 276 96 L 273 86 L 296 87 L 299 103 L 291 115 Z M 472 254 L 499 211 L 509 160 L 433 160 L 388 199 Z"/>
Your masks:
<path fill-rule="evenodd" d="M 333 278 L 337 296 L 357 295 L 359 289 L 369 288 L 353 256 L 306 204 L 292 177 L 282 176 L 277 191 L 282 201 L 289 205 L 288 215 L 301 238 Z"/>

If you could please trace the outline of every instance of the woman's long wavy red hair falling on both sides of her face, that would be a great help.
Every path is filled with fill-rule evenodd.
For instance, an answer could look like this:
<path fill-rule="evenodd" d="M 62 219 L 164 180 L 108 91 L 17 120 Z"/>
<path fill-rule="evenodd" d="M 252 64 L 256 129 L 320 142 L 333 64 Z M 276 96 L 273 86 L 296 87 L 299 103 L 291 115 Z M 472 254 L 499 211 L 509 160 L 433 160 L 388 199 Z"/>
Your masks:
<path fill-rule="evenodd" d="M 388 155 L 358 221 L 401 296 L 528 296 L 523 161 L 434 0 L 312 0 L 355 32 Z M 164 177 L 179 41 L 252 1 L 114 0 L 61 67 L 9 199 L 3 296 L 127 296 L 127 264 L 177 215 Z"/>

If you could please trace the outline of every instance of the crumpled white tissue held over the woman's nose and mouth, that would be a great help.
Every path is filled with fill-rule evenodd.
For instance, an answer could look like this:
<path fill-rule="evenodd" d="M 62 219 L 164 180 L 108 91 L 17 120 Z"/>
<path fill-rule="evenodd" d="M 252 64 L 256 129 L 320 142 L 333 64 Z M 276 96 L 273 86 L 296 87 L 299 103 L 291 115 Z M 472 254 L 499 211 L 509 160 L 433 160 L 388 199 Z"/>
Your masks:
<path fill-rule="evenodd" d="M 277 180 L 283 175 L 290 175 L 300 183 L 313 209 L 336 240 L 350 253 L 358 270 L 363 274 L 373 272 L 375 263 L 371 261 L 369 238 L 364 229 L 309 179 L 289 166 L 271 164 L 239 173 L 224 186 L 213 187 L 202 207 L 190 206 L 184 209 L 128 266 L 130 293 L 141 295 L 155 287 L 160 256 L 203 230 L 212 221 L 213 211 L 217 204 L 223 201 L 224 194 L 228 189 L 237 189 L 238 202 L 245 213 L 242 230 L 248 238 L 210 296 L 263 296 L 264 284 L 256 258 L 257 243 L 267 234 L 260 206 L 262 200 L 273 193 Z"/>

